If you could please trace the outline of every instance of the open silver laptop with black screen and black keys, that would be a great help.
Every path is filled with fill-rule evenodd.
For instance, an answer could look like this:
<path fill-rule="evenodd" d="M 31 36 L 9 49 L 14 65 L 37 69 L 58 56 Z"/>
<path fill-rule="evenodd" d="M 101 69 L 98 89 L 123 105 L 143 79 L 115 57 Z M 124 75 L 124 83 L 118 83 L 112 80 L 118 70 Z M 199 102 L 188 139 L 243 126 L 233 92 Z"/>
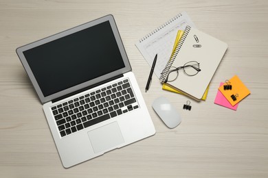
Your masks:
<path fill-rule="evenodd" d="M 65 168 L 155 134 L 112 15 L 16 53 Z"/>

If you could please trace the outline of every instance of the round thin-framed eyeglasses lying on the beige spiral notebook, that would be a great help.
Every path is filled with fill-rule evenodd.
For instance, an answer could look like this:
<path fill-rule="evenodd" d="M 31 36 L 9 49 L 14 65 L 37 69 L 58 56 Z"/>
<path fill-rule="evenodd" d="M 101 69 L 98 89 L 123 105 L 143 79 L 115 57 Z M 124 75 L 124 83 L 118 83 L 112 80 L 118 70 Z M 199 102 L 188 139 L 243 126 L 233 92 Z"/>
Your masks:
<path fill-rule="evenodd" d="M 179 67 L 170 67 L 170 71 L 168 72 L 168 75 L 166 75 L 166 79 L 164 81 L 164 83 L 168 82 L 168 81 L 175 81 L 175 79 L 177 79 L 177 77 L 179 77 L 179 69 L 183 68 L 183 71 L 186 75 L 188 76 L 194 76 L 197 75 L 197 73 L 199 73 L 201 71 L 201 69 L 199 68 L 199 64 L 197 61 L 190 61 L 187 62 L 186 64 L 184 64 L 183 66 L 179 66 Z"/>

